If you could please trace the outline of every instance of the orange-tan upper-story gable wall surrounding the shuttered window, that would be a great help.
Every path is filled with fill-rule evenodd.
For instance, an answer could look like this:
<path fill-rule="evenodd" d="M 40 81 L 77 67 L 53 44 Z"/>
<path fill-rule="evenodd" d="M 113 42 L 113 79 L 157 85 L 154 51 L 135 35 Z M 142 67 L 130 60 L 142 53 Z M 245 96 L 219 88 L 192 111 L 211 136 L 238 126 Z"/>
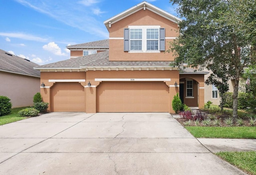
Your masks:
<path fill-rule="evenodd" d="M 151 12 L 150 10 L 139 10 L 138 12 L 127 16 L 126 18 L 111 25 L 109 30 L 110 38 L 124 38 L 124 28 L 128 26 L 160 26 L 165 28 L 165 37 L 176 37 L 178 33 L 178 24 L 163 18 L 162 16 Z M 172 39 L 166 39 L 166 50 L 168 50 L 168 42 Z M 123 39 L 109 40 L 109 60 L 110 61 L 172 61 L 174 57 L 172 53 L 128 53 L 124 52 Z"/>

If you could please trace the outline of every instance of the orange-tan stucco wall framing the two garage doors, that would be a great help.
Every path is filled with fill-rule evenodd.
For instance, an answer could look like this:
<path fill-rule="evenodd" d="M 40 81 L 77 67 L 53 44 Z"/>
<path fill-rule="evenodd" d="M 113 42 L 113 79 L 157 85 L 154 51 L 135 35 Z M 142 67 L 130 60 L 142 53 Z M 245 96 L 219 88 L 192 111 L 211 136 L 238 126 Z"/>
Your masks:
<path fill-rule="evenodd" d="M 166 86 L 174 86 L 175 82 L 179 81 L 179 72 L 178 70 L 149 70 L 149 71 L 87 71 L 87 72 L 41 72 L 41 82 L 44 82 L 45 88 L 41 88 L 41 94 L 43 101 L 50 103 L 49 111 L 52 109 L 51 104 L 51 88 L 54 86 L 54 83 L 49 82 L 49 79 L 59 80 L 59 79 L 86 79 L 86 82 L 81 83 L 81 85 L 86 86 L 90 81 L 92 87 L 85 87 L 86 95 L 86 113 L 96 113 L 96 91 L 97 86 L 100 82 L 95 81 L 95 78 L 170 78 L 171 81 L 165 82 Z M 96 86 L 96 87 L 94 87 Z M 169 87 L 169 112 L 174 113 L 172 110 L 172 99 L 174 95 L 178 92 L 178 87 Z"/>

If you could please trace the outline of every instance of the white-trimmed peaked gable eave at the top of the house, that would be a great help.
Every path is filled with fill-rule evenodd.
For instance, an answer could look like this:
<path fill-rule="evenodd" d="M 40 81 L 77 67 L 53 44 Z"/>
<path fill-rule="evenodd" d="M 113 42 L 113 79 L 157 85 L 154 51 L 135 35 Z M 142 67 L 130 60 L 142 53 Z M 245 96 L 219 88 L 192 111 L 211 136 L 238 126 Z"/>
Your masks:
<path fill-rule="evenodd" d="M 122 13 L 120 13 L 120 14 L 118 14 L 118 15 L 116 15 L 116 16 L 114 16 L 114 17 L 112 17 L 112 18 L 110 18 L 106 21 L 104 21 L 104 24 L 106 26 L 111 27 L 111 24 L 114 24 L 115 22 L 118 22 L 119 20 L 122 20 L 123 18 L 126 18 L 127 16 L 129 16 L 129 15 L 135 13 L 135 12 L 138 12 L 141 9 L 144 9 L 144 10 L 148 9 L 148 10 L 150 10 L 150 11 L 152 11 L 152 12 L 154 12 L 154 13 L 156 13 L 156 14 L 158 14 L 158 15 L 160 15 L 160 16 L 162 16 L 162 17 L 164 17 L 164 18 L 166 18 L 166 19 L 168 19 L 172 22 L 175 22 L 175 23 L 179 23 L 179 22 L 182 21 L 182 19 L 180 19 L 180 18 L 178 18 L 178 17 L 176 17 L 176 16 L 174 16 L 174 15 L 172 15 L 172 14 L 170 14 L 170 13 L 168 13 L 168 12 L 166 12 L 166 11 L 156 7 L 156 6 L 153 6 L 152 4 L 149 4 L 146 1 L 143 1 L 140 4 L 138 4 L 138 5 L 136 5 L 132 8 L 129 8 L 128 10 L 126 10 L 126 11 L 124 11 L 124 12 L 122 12 Z"/>

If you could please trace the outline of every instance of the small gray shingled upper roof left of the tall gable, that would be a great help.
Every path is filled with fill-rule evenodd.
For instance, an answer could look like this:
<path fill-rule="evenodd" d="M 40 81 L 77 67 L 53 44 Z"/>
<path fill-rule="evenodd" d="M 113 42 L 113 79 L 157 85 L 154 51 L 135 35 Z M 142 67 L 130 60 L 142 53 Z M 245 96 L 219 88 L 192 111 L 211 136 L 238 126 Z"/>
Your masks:
<path fill-rule="evenodd" d="M 100 40 L 94 42 L 87 42 L 82 44 L 76 44 L 72 46 L 66 46 L 66 48 L 109 48 L 109 40 Z"/>

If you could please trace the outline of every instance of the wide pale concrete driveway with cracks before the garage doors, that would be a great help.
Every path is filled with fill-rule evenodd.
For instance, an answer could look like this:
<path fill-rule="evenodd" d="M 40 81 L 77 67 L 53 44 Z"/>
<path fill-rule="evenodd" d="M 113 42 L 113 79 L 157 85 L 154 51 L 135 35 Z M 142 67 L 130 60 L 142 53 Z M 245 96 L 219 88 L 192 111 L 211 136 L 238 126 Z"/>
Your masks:
<path fill-rule="evenodd" d="M 243 175 L 169 113 L 47 113 L 0 126 L 2 175 Z"/>

